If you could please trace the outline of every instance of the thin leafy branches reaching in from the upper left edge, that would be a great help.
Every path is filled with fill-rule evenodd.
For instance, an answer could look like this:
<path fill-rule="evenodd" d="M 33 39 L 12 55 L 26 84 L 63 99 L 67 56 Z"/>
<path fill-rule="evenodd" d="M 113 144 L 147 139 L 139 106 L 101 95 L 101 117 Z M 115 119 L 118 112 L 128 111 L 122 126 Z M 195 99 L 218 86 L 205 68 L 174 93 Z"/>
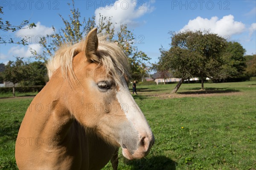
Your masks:
<path fill-rule="evenodd" d="M 3 15 L 3 7 L 0 6 L 0 14 Z M 36 27 L 35 23 L 30 23 L 28 20 L 23 20 L 23 22 L 20 23 L 20 25 L 12 25 L 9 21 L 3 21 L 3 18 L 0 17 L 0 30 L 3 32 L 15 32 L 19 29 L 32 29 L 33 27 Z M 28 38 L 22 38 L 20 41 L 15 42 L 12 40 L 12 38 L 9 39 L 9 41 L 6 41 L 5 38 L 2 36 L 0 37 L 0 44 L 6 44 L 6 43 L 17 43 L 17 44 L 22 44 L 22 45 L 28 45 L 27 44 L 27 39 Z"/>

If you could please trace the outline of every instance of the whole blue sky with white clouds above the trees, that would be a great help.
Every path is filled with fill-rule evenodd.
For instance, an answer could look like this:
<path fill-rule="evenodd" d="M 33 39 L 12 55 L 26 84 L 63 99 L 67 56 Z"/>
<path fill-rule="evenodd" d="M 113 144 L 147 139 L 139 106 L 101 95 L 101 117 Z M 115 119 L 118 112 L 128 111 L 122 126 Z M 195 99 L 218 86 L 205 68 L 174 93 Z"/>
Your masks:
<path fill-rule="evenodd" d="M 0 32 L 2 38 L 17 40 L 29 35 L 29 47 L 41 52 L 37 38 L 51 34 L 51 27 L 64 27 L 58 14 L 67 18 L 67 3 L 71 0 L 1 0 L 3 20 L 19 24 L 29 20 L 37 24 L 33 30 Z M 256 1 L 255 0 L 75 0 L 81 16 L 96 18 L 99 13 L 113 16 L 113 23 L 128 25 L 136 36 L 135 46 L 145 52 L 151 63 L 158 61 L 161 45 L 168 49 L 171 43 L 169 31 L 210 29 L 230 41 L 237 41 L 246 54 L 256 54 Z M 28 47 L 16 44 L 0 45 L 0 63 L 15 60 L 15 56 L 29 58 Z"/>

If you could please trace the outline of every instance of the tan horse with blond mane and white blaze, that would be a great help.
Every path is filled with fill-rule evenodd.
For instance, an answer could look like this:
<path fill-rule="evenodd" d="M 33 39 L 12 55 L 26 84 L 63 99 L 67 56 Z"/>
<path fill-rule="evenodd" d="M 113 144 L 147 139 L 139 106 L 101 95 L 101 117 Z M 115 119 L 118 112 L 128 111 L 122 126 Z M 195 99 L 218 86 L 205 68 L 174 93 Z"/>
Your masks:
<path fill-rule="evenodd" d="M 154 144 L 148 122 L 128 89 L 130 67 L 116 43 L 91 30 L 63 44 L 47 63 L 49 81 L 29 105 L 15 144 L 20 170 L 99 170 L 118 150 L 147 156 Z"/>

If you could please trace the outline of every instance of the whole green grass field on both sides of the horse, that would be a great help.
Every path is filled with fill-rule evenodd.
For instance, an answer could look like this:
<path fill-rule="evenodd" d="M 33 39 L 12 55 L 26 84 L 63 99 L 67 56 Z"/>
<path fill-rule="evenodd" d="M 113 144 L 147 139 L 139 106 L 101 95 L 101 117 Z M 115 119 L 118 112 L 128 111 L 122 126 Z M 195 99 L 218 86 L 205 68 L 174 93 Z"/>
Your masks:
<path fill-rule="evenodd" d="M 174 86 L 138 86 L 155 144 L 140 160 L 119 152 L 119 170 L 256 170 L 256 82 L 183 84 L 170 95 Z M 0 169 L 17 169 L 15 139 L 31 101 L 0 99 Z"/>

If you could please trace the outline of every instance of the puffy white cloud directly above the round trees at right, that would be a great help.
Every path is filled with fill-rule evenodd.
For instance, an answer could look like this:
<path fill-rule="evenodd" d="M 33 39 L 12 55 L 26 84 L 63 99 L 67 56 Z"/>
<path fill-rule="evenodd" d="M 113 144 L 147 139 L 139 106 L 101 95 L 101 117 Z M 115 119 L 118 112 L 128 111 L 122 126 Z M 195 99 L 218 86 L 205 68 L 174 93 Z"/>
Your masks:
<path fill-rule="evenodd" d="M 245 25 L 241 22 L 235 21 L 233 15 L 227 15 L 221 18 L 212 17 L 211 19 L 196 17 L 194 20 L 189 20 L 189 23 L 184 26 L 180 31 L 185 30 L 210 30 L 218 35 L 222 36 L 232 36 L 235 34 L 240 34 L 245 30 Z"/>

